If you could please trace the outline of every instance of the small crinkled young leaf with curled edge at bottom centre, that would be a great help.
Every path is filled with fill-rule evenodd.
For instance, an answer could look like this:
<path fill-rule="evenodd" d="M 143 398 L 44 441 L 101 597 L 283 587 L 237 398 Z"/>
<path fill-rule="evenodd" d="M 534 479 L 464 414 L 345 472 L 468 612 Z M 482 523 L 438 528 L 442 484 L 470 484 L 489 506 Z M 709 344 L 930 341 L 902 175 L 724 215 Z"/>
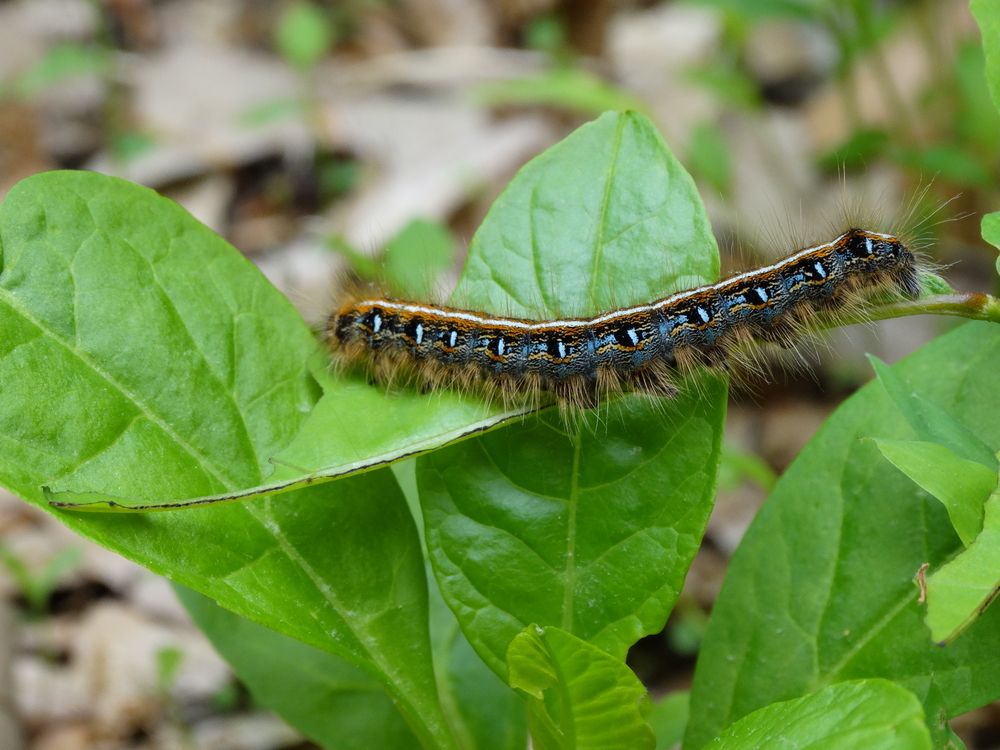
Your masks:
<path fill-rule="evenodd" d="M 536 750 L 653 750 L 646 689 L 625 663 L 559 628 L 531 625 L 507 652 L 510 684 L 528 694 Z"/>

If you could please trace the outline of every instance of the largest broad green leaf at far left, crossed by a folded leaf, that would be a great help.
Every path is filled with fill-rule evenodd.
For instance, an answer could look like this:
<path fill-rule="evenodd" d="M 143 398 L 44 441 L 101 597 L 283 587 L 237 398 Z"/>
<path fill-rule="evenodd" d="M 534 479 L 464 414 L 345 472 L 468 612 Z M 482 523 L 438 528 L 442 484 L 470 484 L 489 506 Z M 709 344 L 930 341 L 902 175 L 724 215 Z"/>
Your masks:
<path fill-rule="evenodd" d="M 95 174 L 21 182 L 0 207 L 0 248 L 0 481 L 361 666 L 422 742 L 450 747 L 419 540 L 389 472 L 175 513 L 45 502 L 42 485 L 154 502 L 259 485 L 319 395 L 316 344 L 287 300 L 176 204 Z"/>

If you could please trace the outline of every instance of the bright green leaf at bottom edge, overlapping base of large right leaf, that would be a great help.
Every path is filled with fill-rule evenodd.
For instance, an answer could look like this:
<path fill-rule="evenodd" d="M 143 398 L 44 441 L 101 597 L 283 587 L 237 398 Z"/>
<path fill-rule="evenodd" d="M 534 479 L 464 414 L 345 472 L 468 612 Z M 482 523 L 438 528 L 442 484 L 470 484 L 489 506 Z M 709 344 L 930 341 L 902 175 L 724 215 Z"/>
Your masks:
<path fill-rule="evenodd" d="M 917 697 L 885 680 L 842 682 L 745 716 L 705 750 L 931 750 Z"/>

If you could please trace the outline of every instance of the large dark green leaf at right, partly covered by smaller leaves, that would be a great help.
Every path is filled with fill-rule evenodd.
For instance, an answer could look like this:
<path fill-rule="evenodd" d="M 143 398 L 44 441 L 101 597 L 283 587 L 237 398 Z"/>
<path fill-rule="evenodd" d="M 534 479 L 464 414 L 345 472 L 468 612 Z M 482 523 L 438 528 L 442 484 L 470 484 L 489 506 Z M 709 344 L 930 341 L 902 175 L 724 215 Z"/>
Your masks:
<path fill-rule="evenodd" d="M 1000 445 L 1000 327 L 969 323 L 893 368 L 912 391 Z M 802 451 L 733 557 L 691 693 L 689 750 L 779 700 L 883 677 L 948 715 L 1000 697 L 1000 610 L 955 643 L 932 643 L 917 587 L 923 563 L 962 549 L 944 507 L 887 470 L 871 441 L 916 435 L 869 384 Z"/>

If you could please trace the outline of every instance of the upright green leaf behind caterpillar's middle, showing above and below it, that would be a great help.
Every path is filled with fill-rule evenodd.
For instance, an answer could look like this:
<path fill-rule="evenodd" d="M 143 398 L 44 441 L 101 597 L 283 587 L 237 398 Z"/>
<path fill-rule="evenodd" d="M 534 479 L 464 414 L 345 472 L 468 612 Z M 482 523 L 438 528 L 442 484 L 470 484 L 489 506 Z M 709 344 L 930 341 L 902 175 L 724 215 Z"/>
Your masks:
<path fill-rule="evenodd" d="M 521 170 L 453 299 L 587 314 L 717 275 L 690 177 L 646 118 L 612 113 Z M 531 623 L 619 657 L 663 627 L 711 510 L 725 395 L 706 377 L 673 401 L 543 415 L 419 459 L 441 592 L 497 674 Z"/>

